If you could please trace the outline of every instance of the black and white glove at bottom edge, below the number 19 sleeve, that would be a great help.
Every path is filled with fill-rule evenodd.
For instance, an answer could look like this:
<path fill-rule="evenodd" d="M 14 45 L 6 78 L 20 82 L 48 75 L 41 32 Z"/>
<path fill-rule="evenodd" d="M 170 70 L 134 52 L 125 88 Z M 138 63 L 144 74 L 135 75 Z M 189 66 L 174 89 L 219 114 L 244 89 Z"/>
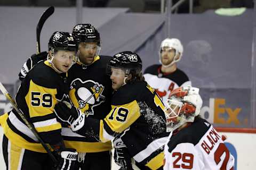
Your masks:
<path fill-rule="evenodd" d="M 114 160 L 115 163 L 120 166 L 119 170 L 130 170 L 132 168 L 131 156 L 128 152 L 128 149 L 124 145 L 122 139 L 115 138 L 113 140 L 115 147 L 114 150 Z"/>

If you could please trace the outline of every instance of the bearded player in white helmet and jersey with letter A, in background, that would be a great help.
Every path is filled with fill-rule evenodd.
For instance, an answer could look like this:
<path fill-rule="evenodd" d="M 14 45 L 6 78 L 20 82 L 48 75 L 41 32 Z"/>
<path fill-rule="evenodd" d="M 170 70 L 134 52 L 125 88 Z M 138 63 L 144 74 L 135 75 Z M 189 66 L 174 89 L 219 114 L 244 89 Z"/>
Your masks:
<path fill-rule="evenodd" d="M 170 92 L 180 86 L 191 86 L 186 73 L 178 69 L 183 46 L 179 39 L 166 38 L 162 41 L 159 50 L 159 62 L 147 67 L 144 72 L 145 80 L 153 87 L 159 97 L 165 102 Z"/>

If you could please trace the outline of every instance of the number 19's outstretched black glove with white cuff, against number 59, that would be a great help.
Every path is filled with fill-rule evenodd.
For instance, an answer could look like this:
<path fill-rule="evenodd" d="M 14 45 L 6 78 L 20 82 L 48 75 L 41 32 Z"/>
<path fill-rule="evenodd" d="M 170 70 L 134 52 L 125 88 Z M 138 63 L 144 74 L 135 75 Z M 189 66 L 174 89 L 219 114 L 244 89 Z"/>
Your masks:
<path fill-rule="evenodd" d="M 59 122 L 69 125 L 74 132 L 84 126 L 85 114 L 67 101 L 60 101 L 56 104 L 54 113 Z"/>

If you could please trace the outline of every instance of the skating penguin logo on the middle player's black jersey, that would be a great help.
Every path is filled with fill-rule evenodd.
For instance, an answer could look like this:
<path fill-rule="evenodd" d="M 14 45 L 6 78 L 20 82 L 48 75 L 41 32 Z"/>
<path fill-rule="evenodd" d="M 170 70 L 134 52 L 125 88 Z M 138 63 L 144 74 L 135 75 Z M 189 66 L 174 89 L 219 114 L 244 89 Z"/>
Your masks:
<path fill-rule="evenodd" d="M 70 84 L 69 97 L 83 113 L 93 115 L 93 107 L 105 101 L 105 96 L 101 95 L 104 89 L 102 84 L 92 80 L 75 79 Z"/>

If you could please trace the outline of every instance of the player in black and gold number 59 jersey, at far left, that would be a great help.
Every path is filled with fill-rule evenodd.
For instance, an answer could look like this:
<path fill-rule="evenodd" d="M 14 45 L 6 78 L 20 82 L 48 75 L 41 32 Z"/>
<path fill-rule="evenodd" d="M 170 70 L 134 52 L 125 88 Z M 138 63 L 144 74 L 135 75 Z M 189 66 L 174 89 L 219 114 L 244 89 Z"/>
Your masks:
<path fill-rule="evenodd" d="M 65 147 L 61 124 L 53 112 L 59 101 L 69 101 L 66 74 L 76 53 L 77 45 L 70 33 L 54 32 L 49 40 L 47 60 L 27 73 L 15 96 L 20 111 L 33 123 L 42 140 L 54 149 L 60 160 L 59 169 L 72 169 L 77 157 L 75 149 Z M 7 169 L 52 169 L 46 150 L 15 109 L 2 115 L 0 123 Z"/>

